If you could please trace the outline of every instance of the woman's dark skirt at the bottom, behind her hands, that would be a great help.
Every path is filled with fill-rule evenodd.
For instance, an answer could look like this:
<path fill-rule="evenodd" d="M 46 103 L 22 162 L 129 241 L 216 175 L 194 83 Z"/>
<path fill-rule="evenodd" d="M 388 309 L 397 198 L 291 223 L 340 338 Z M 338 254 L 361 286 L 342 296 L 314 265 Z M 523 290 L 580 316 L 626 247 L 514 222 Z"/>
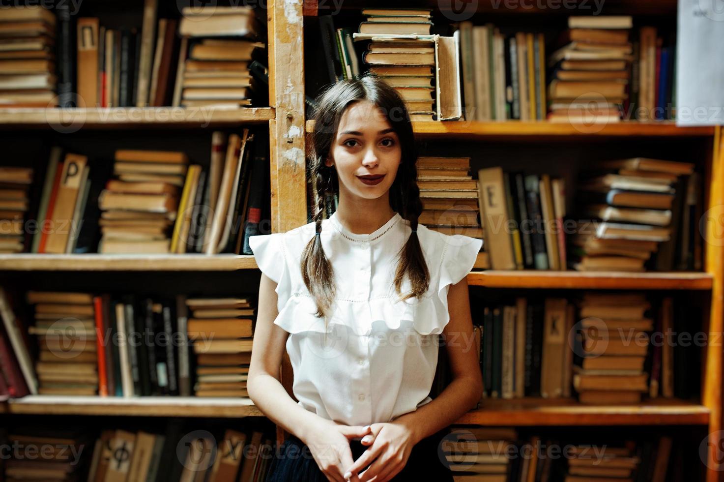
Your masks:
<path fill-rule="evenodd" d="M 392 481 L 452 482 L 452 471 L 442 456 L 440 442 L 449 433 L 447 429 L 434 433 L 412 448 L 408 462 Z M 357 460 L 368 447 L 359 440 L 350 441 L 352 458 Z M 442 460 L 441 460 L 442 456 Z M 266 482 L 326 482 L 327 476 L 319 470 L 309 447 L 290 435 L 271 459 Z"/>

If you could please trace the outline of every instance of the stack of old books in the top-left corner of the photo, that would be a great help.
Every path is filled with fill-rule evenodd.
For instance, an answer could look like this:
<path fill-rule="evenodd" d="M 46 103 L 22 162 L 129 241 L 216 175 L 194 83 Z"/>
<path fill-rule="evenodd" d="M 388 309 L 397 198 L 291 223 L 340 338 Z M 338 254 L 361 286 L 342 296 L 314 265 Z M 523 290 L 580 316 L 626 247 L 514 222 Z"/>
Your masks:
<path fill-rule="evenodd" d="M 48 9 L 7 6 L 0 24 L 0 107 L 56 107 L 55 25 Z"/>

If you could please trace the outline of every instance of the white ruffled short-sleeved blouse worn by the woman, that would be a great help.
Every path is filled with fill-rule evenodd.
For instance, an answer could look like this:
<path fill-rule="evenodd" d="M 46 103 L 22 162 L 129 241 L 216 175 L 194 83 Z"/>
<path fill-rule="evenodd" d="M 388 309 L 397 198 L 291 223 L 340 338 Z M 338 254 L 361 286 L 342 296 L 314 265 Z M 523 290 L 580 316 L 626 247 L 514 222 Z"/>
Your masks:
<path fill-rule="evenodd" d="M 314 223 L 249 238 L 262 273 L 277 283 L 279 315 L 290 333 L 292 391 L 306 410 L 346 425 L 390 422 L 430 402 L 439 333 L 450 320 L 447 291 L 473 267 L 480 239 L 418 225 L 430 274 L 422 299 L 398 301 L 397 252 L 410 236 L 398 213 L 369 234 L 354 234 L 336 212 L 322 220 L 321 243 L 332 263 L 337 296 L 324 318 L 304 285 L 301 255 Z M 410 291 L 405 276 L 403 294 Z"/>

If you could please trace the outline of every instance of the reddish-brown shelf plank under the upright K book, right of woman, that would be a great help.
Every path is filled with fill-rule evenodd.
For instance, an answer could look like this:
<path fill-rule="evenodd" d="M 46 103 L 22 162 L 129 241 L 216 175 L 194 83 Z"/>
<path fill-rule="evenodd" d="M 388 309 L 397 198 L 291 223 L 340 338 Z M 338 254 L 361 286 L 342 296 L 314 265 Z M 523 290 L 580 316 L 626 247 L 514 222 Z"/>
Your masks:
<path fill-rule="evenodd" d="M 575 399 L 483 399 L 455 423 L 489 426 L 534 425 L 707 425 L 710 410 L 679 399 L 639 405 L 584 405 Z"/>

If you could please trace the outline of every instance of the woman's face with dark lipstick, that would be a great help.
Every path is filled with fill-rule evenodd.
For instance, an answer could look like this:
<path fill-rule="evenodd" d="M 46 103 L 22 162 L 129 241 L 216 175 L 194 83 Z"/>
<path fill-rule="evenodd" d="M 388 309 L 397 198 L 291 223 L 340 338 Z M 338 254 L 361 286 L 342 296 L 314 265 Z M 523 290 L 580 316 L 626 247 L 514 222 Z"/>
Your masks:
<path fill-rule="evenodd" d="M 341 191 L 377 199 L 390 190 L 400 167 L 400 139 L 370 101 L 350 105 L 342 115 L 325 164 L 335 165 Z"/>

